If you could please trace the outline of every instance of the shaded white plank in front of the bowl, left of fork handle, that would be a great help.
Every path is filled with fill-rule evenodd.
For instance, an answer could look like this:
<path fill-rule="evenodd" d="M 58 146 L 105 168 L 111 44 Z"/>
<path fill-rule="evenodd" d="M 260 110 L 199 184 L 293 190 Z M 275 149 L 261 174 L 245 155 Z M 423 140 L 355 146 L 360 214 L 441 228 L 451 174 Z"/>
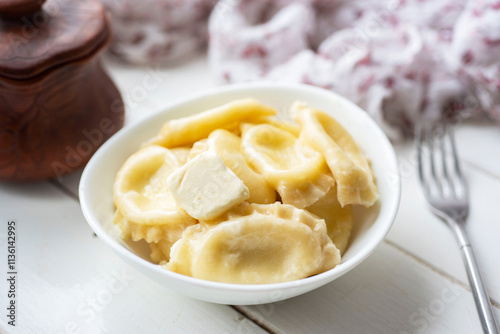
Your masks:
<path fill-rule="evenodd" d="M 387 244 L 322 288 L 241 308 L 277 333 L 481 332 L 470 292 Z"/>

